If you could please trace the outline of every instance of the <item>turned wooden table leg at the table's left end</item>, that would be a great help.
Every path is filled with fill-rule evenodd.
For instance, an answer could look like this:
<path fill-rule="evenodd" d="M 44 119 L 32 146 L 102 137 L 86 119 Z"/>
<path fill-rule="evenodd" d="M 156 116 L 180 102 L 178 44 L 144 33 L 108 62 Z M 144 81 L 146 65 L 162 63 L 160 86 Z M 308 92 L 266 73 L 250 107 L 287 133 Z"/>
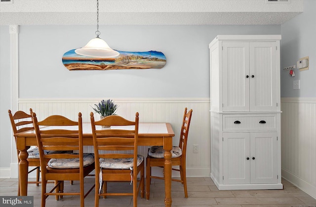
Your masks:
<path fill-rule="evenodd" d="M 29 162 L 27 161 L 29 154 L 26 149 L 20 150 L 19 153 L 19 185 L 20 196 L 28 195 L 28 170 Z"/>

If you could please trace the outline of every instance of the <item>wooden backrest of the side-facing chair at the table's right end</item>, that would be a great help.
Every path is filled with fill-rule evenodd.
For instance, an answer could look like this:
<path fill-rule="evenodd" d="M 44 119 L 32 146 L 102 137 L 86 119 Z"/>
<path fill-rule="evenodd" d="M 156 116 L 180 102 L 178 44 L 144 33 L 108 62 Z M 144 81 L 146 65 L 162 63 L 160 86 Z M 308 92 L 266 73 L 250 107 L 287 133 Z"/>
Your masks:
<path fill-rule="evenodd" d="M 181 126 L 181 132 L 180 132 L 180 141 L 179 141 L 179 147 L 182 150 L 182 155 L 186 155 L 187 151 L 187 141 L 188 141 L 188 134 L 189 134 L 189 128 L 190 128 L 190 122 L 191 122 L 191 116 L 192 116 L 192 109 L 187 112 L 187 108 L 184 109 L 183 114 L 183 120 L 182 120 L 182 126 Z"/>

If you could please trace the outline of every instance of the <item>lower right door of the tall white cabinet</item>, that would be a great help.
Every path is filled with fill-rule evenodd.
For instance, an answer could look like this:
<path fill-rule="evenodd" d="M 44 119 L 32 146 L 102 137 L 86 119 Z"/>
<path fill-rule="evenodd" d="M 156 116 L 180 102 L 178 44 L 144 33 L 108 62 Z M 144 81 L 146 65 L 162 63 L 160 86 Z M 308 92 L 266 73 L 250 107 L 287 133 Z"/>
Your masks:
<path fill-rule="evenodd" d="M 250 183 L 277 183 L 277 133 L 250 133 Z"/>

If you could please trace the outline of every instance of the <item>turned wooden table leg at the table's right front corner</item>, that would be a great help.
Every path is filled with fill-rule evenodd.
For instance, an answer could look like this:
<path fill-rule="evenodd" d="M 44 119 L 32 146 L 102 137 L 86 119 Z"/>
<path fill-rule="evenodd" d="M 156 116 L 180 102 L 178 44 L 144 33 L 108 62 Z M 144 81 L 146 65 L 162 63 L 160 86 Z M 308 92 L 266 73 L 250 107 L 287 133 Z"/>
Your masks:
<path fill-rule="evenodd" d="M 163 138 L 163 149 L 164 149 L 164 190 L 165 198 L 164 205 L 166 207 L 171 207 L 171 174 L 172 174 L 172 162 L 171 162 L 171 152 L 172 149 L 172 138 Z"/>

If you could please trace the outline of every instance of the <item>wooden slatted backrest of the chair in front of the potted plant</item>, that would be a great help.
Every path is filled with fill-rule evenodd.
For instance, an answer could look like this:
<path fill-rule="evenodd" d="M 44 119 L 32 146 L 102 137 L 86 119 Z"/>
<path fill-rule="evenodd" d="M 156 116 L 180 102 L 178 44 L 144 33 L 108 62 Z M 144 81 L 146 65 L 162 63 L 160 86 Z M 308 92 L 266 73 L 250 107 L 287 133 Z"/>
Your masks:
<path fill-rule="evenodd" d="M 118 115 L 107 116 L 95 121 L 93 112 L 90 113 L 90 119 L 96 172 L 100 171 L 99 158 L 133 158 L 134 161 L 137 160 L 138 112 L 135 115 L 135 121 L 126 120 Z M 111 128 L 103 129 L 102 126 L 111 126 Z M 107 150 L 108 153 L 103 150 Z M 110 153 L 109 150 L 111 150 Z M 131 151 L 133 154 L 130 153 Z M 134 162 L 133 169 L 137 169 L 137 162 Z"/>

